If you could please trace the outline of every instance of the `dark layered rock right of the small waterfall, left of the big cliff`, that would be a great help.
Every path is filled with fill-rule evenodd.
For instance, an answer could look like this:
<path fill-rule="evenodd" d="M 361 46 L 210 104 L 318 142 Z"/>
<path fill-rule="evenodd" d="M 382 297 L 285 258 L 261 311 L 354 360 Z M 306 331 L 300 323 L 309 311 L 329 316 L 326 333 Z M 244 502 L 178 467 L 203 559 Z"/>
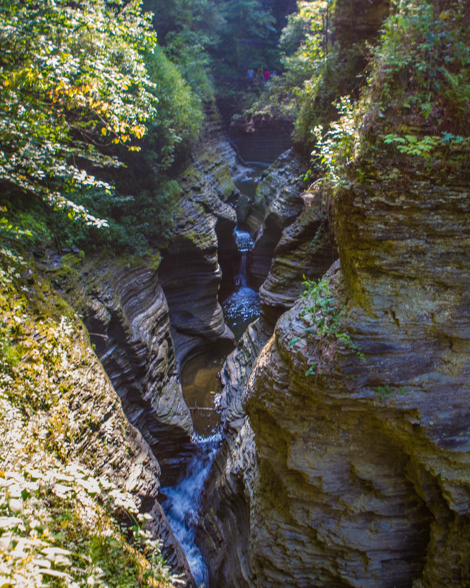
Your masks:
<path fill-rule="evenodd" d="M 305 286 L 318 280 L 337 258 L 333 229 L 326 213 L 314 203 L 283 230 L 274 249 L 270 272 L 260 288 L 261 318 L 274 327 L 292 308 Z"/>

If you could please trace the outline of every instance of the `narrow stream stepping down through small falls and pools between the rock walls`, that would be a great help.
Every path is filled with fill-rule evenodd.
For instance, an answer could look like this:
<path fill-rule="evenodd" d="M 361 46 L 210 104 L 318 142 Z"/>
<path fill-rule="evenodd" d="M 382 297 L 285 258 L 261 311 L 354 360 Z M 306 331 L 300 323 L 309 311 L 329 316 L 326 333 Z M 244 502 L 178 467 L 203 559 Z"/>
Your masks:
<path fill-rule="evenodd" d="M 264 140 L 262 146 L 266 146 Z M 271 162 L 274 161 L 284 148 L 286 147 L 283 143 L 277 152 L 270 151 L 267 157 L 272 158 Z M 259 156 L 260 149 L 255 148 L 254 152 Z M 267 162 L 254 163 L 253 168 L 244 170 L 236 181 L 242 195 L 253 197 L 260 174 L 266 166 Z M 221 289 L 219 301 L 224 320 L 238 341 L 249 324 L 259 317 L 260 296 L 257 290 L 250 287 L 247 279 L 253 238 L 247 230 L 239 226 L 234 229 L 233 236 L 238 249 L 237 266 L 233 272 L 234 283 L 229 288 Z M 204 482 L 222 441 L 220 410 L 217 407 L 220 406 L 222 389 L 219 373 L 225 359 L 225 355 L 204 354 L 187 363 L 182 370 L 183 396 L 193 417 L 192 442 L 195 452 L 184 467 L 177 485 L 161 489 L 164 498 L 162 507 L 174 536 L 182 546 L 196 585 L 204 585 L 205 588 L 209 588 L 209 572 L 195 537 Z"/>

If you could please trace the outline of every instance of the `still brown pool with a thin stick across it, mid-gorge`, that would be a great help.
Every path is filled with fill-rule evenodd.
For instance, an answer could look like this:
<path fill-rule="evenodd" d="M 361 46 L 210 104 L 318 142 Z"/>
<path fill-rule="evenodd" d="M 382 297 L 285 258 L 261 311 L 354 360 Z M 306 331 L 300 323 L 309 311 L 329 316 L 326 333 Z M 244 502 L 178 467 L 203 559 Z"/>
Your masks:
<path fill-rule="evenodd" d="M 193 417 L 197 435 L 208 437 L 218 429 L 220 414 L 214 402 L 220 399 L 222 385 L 219 372 L 225 358 L 201 355 L 184 366 L 181 374 L 183 396 Z"/>

